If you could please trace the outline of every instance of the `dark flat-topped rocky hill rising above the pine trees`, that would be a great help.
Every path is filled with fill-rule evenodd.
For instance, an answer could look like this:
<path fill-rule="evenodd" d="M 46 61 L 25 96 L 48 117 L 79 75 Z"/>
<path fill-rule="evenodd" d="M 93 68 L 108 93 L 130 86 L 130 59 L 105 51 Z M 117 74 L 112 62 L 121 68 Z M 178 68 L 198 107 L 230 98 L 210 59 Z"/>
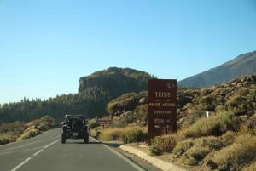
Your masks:
<path fill-rule="evenodd" d="M 109 98 L 112 99 L 125 93 L 146 90 L 148 79 L 152 77 L 144 71 L 110 67 L 107 70 L 96 71 L 90 76 L 80 77 L 79 93 L 87 88 L 103 88 L 108 91 Z"/>

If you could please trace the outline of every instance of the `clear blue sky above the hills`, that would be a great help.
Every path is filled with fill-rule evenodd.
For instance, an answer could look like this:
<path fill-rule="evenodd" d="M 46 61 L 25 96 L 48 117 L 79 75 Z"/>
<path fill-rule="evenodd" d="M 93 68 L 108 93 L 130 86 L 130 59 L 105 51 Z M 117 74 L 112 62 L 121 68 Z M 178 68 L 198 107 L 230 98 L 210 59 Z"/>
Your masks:
<path fill-rule="evenodd" d="M 0 0 L 0 104 L 111 66 L 179 81 L 254 50 L 255 0 Z"/>

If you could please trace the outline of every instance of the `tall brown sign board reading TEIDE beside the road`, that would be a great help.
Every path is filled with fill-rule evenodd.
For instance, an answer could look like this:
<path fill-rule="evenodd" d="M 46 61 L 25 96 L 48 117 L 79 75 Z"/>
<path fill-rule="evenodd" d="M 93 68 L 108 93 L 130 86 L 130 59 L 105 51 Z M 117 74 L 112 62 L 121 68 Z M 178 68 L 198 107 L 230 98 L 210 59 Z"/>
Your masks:
<path fill-rule="evenodd" d="M 155 136 L 177 132 L 177 80 L 148 80 L 148 145 Z"/>

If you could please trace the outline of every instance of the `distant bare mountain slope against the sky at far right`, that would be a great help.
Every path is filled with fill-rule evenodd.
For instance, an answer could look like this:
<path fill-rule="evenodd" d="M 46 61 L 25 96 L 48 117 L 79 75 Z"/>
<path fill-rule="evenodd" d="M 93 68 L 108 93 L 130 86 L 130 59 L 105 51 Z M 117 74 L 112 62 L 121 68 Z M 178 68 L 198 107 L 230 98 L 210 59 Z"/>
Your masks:
<path fill-rule="evenodd" d="M 206 88 L 231 79 L 256 73 L 256 51 L 241 54 L 221 66 L 179 81 L 182 88 Z"/>

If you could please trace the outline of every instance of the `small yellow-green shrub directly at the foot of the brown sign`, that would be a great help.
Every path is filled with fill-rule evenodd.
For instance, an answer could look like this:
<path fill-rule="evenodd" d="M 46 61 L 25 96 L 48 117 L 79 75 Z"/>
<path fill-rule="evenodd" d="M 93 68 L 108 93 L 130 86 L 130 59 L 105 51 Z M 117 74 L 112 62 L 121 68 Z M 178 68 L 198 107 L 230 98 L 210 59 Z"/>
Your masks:
<path fill-rule="evenodd" d="M 151 155 L 160 155 L 164 152 L 171 152 L 177 145 L 177 136 L 175 134 L 156 136 L 151 140 L 151 144 L 149 149 Z"/>

